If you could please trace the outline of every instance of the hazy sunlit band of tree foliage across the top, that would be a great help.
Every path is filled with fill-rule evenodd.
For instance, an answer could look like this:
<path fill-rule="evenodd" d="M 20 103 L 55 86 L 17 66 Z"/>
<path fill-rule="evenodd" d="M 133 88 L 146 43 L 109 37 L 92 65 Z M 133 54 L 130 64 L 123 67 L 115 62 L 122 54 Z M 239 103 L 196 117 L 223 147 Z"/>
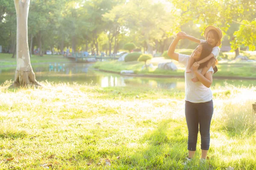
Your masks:
<path fill-rule="evenodd" d="M 16 40 L 15 7 L 0 0 L 0 45 L 12 53 Z M 29 7 L 29 48 L 116 54 L 128 42 L 141 51 L 163 53 L 180 30 L 197 38 L 209 25 L 220 27 L 235 50 L 255 50 L 254 0 L 33 0 Z M 194 48 L 180 42 L 180 48 Z"/>

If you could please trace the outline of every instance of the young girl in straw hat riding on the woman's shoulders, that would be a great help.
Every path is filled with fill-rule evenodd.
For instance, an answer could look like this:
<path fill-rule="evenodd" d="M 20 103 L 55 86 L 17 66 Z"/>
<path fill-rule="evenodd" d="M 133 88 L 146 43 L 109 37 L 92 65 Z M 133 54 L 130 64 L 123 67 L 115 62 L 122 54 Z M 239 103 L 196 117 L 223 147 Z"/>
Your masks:
<path fill-rule="evenodd" d="M 216 62 L 216 59 L 220 52 L 220 48 L 218 47 L 221 45 L 221 38 L 222 38 L 222 32 L 221 32 L 220 28 L 216 28 L 214 26 L 208 26 L 204 30 L 204 37 L 206 38 L 206 40 L 198 40 L 197 38 L 189 36 L 184 32 L 179 32 L 178 34 L 180 36 L 182 36 L 183 38 L 187 38 L 188 40 L 197 42 L 198 44 L 206 42 L 207 44 L 211 45 L 213 47 L 212 53 L 209 56 L 207 56 L 206 58 L 198 61 L 198 64 L 204 63 L 204 65 L 205 65 L 201 72 L 203 75 L 206 74 L 206 72 L 209 70 L 209 68 L 211 66 L 212 66 L 212 68 L 214 68 L 214 72 L 218 71 L 217 67 L 215 66 L 215 62 Z M 193 54 L 191 56 L 193 56 Z M 207 62 L 207 61 L 209 61 L 209 62 Z M 205 62 L 207 62 L 207 63 L 205 63 Z M 188 65 L 186 67 L 186 73 L 191 73 L 190 68 L 192 67 L 193 63 L 194 63 L 194 59 L 193 59 L 193 57 L 190 57 Z M 197 77 L 193 77 L 191 80 L 193 82 L 198 82 Z"/>

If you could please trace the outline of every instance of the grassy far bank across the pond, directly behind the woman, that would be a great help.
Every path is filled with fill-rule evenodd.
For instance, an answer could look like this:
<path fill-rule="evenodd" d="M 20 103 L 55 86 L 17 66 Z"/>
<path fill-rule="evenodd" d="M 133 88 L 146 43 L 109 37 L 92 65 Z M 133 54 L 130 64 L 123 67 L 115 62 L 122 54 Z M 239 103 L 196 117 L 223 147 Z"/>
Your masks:
<path fill-rule="evenodd" d="M 169 71 L 158 69 L 158 63 L 162 62 L 174 62 L 177 66 L 177 71 Z M 106 71 L 120 72 L 122 70 L 132 70 L 135 74 L 153 74 L 153 75 L 170 75 L 170 76 L 183 76 L 184 65 L 179 64 L 177 61 L 164 59 L 163 57 L 156 57 L 148 61 L 148 64 L 152 63 L 154 68 L 143 69 L 144 62 L 118 62 L 118 61 L 106 61 L 96 62 L 93 65 L 94 68 L 98 68 Z M 256 62 L 242 62 L 242 61 L 219 61 L 217 65 L 218 72 L 214 74 L 215 77 L 256 77 Z"/>

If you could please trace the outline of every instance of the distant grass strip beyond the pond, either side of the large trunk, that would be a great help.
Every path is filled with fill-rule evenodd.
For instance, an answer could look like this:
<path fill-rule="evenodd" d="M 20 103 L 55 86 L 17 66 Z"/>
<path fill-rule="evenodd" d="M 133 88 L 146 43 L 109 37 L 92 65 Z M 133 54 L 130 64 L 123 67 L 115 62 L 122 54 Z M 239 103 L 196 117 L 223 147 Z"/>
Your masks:
<path fill-rule="evenodd" d="M 44 62 L 70 62 L 67 58 L 61 55 L 44 55 L 40 57 L 38 55 L 32 55 L 30 62 L 33 63 L 44 63 Z M 0 67 L 6 65 L 16 65 L 16 58 L 12 58 L 12 54 L 0 53 Z"/>

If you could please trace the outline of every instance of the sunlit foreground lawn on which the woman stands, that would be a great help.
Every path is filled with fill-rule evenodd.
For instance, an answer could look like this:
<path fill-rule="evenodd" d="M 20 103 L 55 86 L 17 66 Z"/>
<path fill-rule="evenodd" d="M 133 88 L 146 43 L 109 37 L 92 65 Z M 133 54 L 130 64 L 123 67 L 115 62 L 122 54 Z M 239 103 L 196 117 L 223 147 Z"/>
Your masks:
<path fill-rule="evenodd" d="M 0 86 L 1 169 L 182 169 L 184 92 L 51 84 Z M 213 89 L 211 169 L 256 168 L 256 88 Z M 198 169 L 200 139 L 194 167 Z"/>

